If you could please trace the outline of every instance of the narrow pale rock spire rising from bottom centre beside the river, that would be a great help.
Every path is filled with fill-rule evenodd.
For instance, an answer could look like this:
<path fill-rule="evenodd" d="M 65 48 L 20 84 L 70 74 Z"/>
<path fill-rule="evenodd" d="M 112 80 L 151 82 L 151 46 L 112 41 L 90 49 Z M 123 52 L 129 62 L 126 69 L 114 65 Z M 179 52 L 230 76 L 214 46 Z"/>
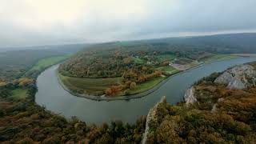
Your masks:
<path fill-rule="evenodd" d="M 150 134 L 149 123 L 157 121 L 155 116 L 156 116 L 156 113 L 158 110 L 158 106 L 162 102 L 166 102 L 166 96 L 163 96 L 161 101 L 158 102 L 156 105 L 154 105 L 154 107 L 150 109 L 149 114 L 147 114 L 147 116 L 146 116 L 146 128 L 145 128 L 145 132 L 143 134 L 142 144 L 146 144 L 147 136 L 148 136 L 148 134 Z"/>

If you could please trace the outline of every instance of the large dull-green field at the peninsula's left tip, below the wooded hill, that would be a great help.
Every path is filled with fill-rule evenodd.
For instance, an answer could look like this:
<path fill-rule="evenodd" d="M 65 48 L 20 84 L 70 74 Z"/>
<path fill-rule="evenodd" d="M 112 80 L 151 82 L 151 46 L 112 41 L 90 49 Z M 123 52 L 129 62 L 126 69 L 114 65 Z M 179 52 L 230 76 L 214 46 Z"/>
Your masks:
<path fill-rule="evenodd" d="M 101 95 L 110 86 L 118 85 L 122 78 L 73 78 L 58 74 L 63 84 L 70 90 L 82 90 L 84 94 Z M 80 91 L 79 91 L 80 93 Z"/>

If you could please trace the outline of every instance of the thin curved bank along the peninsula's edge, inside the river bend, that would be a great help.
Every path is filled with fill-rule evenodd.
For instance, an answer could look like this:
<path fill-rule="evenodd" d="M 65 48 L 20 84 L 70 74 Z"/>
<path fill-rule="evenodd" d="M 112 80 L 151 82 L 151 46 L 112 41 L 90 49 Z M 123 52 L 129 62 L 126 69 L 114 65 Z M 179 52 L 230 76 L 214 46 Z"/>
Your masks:
<path fill-rule="evenodd" d="M 105 95 L 95 96 L 95 95 L 90 95 L 90 94 L 78 94 L 78 93 L 75 93 L 74 91 L 70 90 L 67 86 L 65 86 L 65 84 L 62 82 L 62 79 L 60 78 L 60 76 L 58 74 L 58 70 L 55 71 L 55 75 L 57 76 L 58 83 L 62 86 L 62 88 L 64 90 L 66 90 L 67 92 L 69 92 L 70 94 L 74 95 L 74 96 L 81 97 L 81 98 L 88 98 L 88 99 L 91 99 L 91 100 L 94 100 L 94 101 L 130 100 L 130 99 L 134 99 L 134 98 L 145 97 L 146 95 L 153 93 L 155 90 L 158 90 L 170 78 L 172 78 L 174 76 L 177 76 L 178 74 L 186 73 L 189 70 L 193 70 L 193 69 L 198 68 L 198 67 L 203 66 L 203 65 L 204 65 L 204 63 L 200 62 L 200 63 L 198 63 L 197 66 L 193 66 L 190 69 L 183 70 L 181 72 L 178 72 L 177 74 L 170 75 L 170 76 L 166 77 L 165 79 L 163 79 L 161 82 L 158 82 L 157 85 L 153 86 L 149 90 L 143 91 L 142 93 L 130 94 L 130 95 L 125 95 L 125 96 L 116 96 L 116 97 L 106 97 Z"/>

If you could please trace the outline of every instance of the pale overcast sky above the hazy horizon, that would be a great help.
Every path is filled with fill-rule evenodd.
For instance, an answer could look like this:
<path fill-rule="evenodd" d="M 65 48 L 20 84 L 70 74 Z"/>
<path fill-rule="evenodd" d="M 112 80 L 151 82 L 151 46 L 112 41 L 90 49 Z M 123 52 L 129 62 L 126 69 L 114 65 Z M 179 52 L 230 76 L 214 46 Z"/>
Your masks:
<path fill-rule="evenodd" d="M 0 47 L 256 31 L 256 0 L 0 0 Z"/>

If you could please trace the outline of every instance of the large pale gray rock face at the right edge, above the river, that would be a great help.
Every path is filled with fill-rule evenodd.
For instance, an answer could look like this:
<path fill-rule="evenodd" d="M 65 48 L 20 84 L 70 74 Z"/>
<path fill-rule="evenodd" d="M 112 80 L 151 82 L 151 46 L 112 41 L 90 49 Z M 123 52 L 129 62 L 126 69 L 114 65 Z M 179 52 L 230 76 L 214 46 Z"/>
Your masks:
<path fill-rule="evenodd" d="M 256 86 L 255 77 L 256 71 L 253 66 L 239 65 L 226 70 L 214 82 L 226 84 L 227 88 L 231 90 L 242 90 L 250 86 Z"/>

